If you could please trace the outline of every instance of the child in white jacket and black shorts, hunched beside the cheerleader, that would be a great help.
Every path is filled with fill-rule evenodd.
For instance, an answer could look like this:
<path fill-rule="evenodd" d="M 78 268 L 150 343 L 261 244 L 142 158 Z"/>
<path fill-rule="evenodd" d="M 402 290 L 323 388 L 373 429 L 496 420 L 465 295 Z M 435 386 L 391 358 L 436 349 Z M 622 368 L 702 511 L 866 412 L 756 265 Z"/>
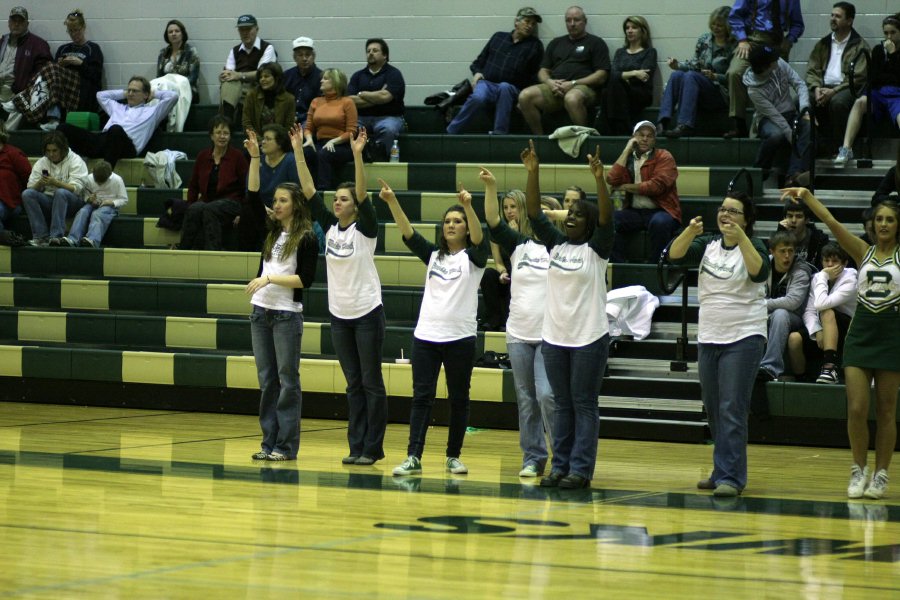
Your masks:
<path fill-rule="evenodd" d="M 844 338 L 856 312 L 856 269 L 847 267 L 850 257 L 831 242 L 822 248 L 822 270 L 813 275 L 803 313 L 802 331 L 791 333 L 788 351 L 795 373 L 806 371 L 806 359 L 823 360 L 816 383 L 837 383 Z"/>

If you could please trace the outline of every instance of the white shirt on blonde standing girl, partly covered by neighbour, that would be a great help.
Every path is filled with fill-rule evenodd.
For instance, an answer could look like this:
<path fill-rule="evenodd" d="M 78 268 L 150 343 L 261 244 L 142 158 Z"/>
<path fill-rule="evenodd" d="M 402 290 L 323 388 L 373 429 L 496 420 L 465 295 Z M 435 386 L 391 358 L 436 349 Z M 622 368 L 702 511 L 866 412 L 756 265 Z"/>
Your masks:
<path fill-rule="evenodd" d="M 526 342 L 540 342 L 550 253 L 543 244 L 528 240 L 516 246 L 510 263 L 512 271 L 506 332 Z"/>

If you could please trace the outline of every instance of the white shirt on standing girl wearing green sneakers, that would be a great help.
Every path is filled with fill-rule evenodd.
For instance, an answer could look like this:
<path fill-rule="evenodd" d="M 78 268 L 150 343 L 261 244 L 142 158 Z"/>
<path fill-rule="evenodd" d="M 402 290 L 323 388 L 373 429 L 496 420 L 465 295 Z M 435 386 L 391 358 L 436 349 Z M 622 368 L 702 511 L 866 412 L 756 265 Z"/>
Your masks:
<path fill-rule="evenodd" d="M 437 250 L 432 252 L 413 335 L 426 342 L 452 342 L 476 335 L 478 286 L 483 274 L 484 267 L 475 266 L 465 250 L 441 259 Z"/>

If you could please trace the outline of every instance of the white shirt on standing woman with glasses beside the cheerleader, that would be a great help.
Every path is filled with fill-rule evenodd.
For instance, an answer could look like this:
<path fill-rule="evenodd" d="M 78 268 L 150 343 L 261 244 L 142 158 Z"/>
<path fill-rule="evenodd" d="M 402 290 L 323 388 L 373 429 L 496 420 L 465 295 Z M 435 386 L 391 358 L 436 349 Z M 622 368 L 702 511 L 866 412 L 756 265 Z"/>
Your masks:
<path fill-rule="evenodd" d="M 713 236 L 700 261 L 698 287 L 698 342 L 731 344 L 752 335 L 766 337 L 766 283 L 750 280 L 740 248 L 726 249 L 722 238 Z"/>

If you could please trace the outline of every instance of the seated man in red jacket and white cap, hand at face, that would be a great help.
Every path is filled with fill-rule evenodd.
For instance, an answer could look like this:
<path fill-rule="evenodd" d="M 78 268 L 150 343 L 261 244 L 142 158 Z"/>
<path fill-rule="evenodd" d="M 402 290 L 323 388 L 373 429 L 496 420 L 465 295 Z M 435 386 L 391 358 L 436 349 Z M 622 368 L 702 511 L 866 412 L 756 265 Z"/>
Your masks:
<path fill-rule="evenodd" d="M 610 186 L 625 192 L 622 209 L 613 215 L 613 262 L 625 261 L 628 240 L 641 231 L 650 235 L 650 255 L 643 260 L 656 262 L 681 227 L 677 179 L 675 157 L 656 147 L 656 126 L 650 121 L 635 125 L 632 138 L 606 176 Z"/>

